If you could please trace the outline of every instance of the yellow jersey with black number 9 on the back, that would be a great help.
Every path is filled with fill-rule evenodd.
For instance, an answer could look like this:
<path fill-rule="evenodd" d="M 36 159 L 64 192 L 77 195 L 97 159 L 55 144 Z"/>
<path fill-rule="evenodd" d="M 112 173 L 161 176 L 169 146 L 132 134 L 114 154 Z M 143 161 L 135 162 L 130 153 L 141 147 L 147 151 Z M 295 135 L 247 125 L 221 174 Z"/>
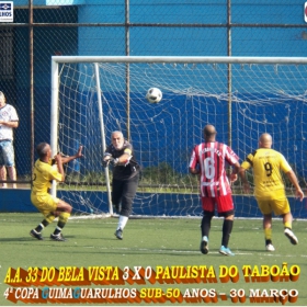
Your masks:
<path fill-rule="evenodd" d="M 254 196 L 258 200 L 284 198 L 285 186 L 281 171 L 292 170 L 285 157 L 271 148 L 259 148 L 248 155 L 241 167 L 253 168 Z"/>

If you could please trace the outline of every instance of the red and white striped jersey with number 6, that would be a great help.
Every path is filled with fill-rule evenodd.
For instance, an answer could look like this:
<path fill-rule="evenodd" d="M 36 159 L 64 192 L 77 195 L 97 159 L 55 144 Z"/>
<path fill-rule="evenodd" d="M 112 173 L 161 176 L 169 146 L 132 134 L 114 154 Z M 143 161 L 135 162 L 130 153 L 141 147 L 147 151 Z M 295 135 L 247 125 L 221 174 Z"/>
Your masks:
<path fill-rule="evenodd" d="M 218 141 L 196 145 L 192 151 L 190 168 L 201 170 L 203 197 L 216 197 L 231 193 L 225 167 L 239 162 L 232 149 Z"/>

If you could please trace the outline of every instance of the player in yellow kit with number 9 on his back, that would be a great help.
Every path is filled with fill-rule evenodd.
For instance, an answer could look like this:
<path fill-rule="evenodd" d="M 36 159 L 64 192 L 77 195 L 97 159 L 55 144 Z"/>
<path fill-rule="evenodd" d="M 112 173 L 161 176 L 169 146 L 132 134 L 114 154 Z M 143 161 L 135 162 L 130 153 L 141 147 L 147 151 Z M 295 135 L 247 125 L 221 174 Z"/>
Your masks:
<path fill-rule="evenodd" d="M 253 169 L 254 196 L 263 214 L 263 229 L 268 251 L 275 250 L 272 243 L 272 212 L 283 217 L 284 234 L 289 241 L 293 245 L 298 243 L 296 236 L 292 231 L 293 217 L 281 171 L 287 175 L 294 185 L 295 196 L 300 201 L 304 198 L 304 193 L 299 187 L 297 178 L 285 157 L 271 147 L 272 136 L 266 133 L 262 134 L 259 138 L 259 149 L 248 155 L 241 163 L 239 171 L 243 183 L 243 191 L 249 193 L 250 185 L 246 177 L 246 170 Z"/>

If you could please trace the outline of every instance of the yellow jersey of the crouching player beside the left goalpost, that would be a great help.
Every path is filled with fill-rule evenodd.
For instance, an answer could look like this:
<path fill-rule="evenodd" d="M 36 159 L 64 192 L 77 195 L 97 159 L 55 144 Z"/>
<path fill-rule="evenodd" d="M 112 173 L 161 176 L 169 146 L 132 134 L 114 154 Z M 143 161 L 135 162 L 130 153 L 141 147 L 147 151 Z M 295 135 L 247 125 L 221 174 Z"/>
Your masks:
<path fill-rule="evenodd" d="M 33 169 L 33 186 L 32 194 L 44 195 L 48 193 L 52 187 L 52 181 L 61 181 L 61 173 L 57 171 L 56 167 L 52 166 L 52 159 L 46 163 L 36 160 Z"/>

